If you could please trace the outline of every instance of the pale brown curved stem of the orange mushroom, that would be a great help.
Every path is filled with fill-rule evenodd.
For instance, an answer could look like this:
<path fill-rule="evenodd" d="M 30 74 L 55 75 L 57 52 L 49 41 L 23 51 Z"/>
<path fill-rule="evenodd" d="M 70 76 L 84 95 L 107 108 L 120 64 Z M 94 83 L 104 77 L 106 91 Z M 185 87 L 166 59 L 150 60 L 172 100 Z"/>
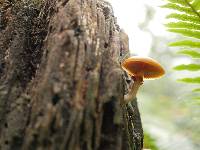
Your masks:
<path fill-rule="evenodd" d="M 143 78 L 134 77 L 134 83 L 131 85 L 131 88 L 130 88 L 128 94 L 124 95 L 124 103 L 125 104 L 127 104 L 128 102 L 130 102 L 136 98 L 138 89 L 142 84 L 143 84 Z"/>

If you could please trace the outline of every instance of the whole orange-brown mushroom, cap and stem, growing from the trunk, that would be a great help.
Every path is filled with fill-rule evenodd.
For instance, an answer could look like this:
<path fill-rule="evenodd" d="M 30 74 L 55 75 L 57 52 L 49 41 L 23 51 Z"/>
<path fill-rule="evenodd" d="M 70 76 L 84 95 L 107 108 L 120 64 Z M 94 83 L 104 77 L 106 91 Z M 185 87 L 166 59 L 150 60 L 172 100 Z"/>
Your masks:
<path fill-rule="evenodd" d="M 136 98 L 137 91 L 143 84 L 143 79 L 156 79 L 165 74 L 163 67 L 149 57 L 129 57 L 122 62 L 122 68 L 134 80 L 128 94 L 124 96 L 125 104 Z"/>

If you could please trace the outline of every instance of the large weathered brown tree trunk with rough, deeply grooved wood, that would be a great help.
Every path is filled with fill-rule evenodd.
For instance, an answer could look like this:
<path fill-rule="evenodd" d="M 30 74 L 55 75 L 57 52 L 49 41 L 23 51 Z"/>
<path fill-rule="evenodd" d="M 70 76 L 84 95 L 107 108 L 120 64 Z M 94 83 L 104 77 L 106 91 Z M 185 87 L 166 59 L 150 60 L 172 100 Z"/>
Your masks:
<path fill-rule="evenodd" d="M 0 149 L 128 150 L 126 113 L 135 118 L 128 121 L 141 150 L 137 103 L 133 114 L 120 105 L 127 76 L 119 60 L 128 37 L 110 4 L 1 0 L 0 6 Z"/>

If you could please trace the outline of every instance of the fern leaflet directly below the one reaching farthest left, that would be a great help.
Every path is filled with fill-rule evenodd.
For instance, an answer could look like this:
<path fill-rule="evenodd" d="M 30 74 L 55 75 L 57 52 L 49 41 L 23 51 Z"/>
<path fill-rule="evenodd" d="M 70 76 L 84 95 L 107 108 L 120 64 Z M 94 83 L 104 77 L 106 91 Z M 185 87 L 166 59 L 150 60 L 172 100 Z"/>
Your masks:
<path fill-rule="evenodd" d="M 187 21 L 187 22 L 193 22 L 196 24 L 200 23 L 200 19 L 197 16 L 193 16 L 193 15 L 187 15 L 187 14 L 177 14 L 177 13 L 172 13 L 167 15 L 166 17 L 167 19 L 177 19 L 180 21 Z"/>

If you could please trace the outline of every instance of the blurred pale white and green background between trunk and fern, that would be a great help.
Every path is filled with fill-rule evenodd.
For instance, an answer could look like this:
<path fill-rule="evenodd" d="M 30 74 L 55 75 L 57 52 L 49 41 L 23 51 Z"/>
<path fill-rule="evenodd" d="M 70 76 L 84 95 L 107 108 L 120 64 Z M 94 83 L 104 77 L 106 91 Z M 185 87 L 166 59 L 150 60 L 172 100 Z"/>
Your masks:
<path fill-rule="evenodd" d="M 190 63 L 191 59 L 176 54 L 178 48 L 168 46 L 180 38 L 167 32 L 163 25 L 170 10 L 159 7 L 163 0 L 107 1 L 113 6 L 118 24 L 129 36 L 131 55 L 152 57 L 166 70 L 163 78 L 145 81 L 138 93 L 146 148 L 199 150 L 200 105 L 190 92 L 196 85 L 177 82 L 180 76 L 188 77 L 191 72 L 172 69 Z"/>

